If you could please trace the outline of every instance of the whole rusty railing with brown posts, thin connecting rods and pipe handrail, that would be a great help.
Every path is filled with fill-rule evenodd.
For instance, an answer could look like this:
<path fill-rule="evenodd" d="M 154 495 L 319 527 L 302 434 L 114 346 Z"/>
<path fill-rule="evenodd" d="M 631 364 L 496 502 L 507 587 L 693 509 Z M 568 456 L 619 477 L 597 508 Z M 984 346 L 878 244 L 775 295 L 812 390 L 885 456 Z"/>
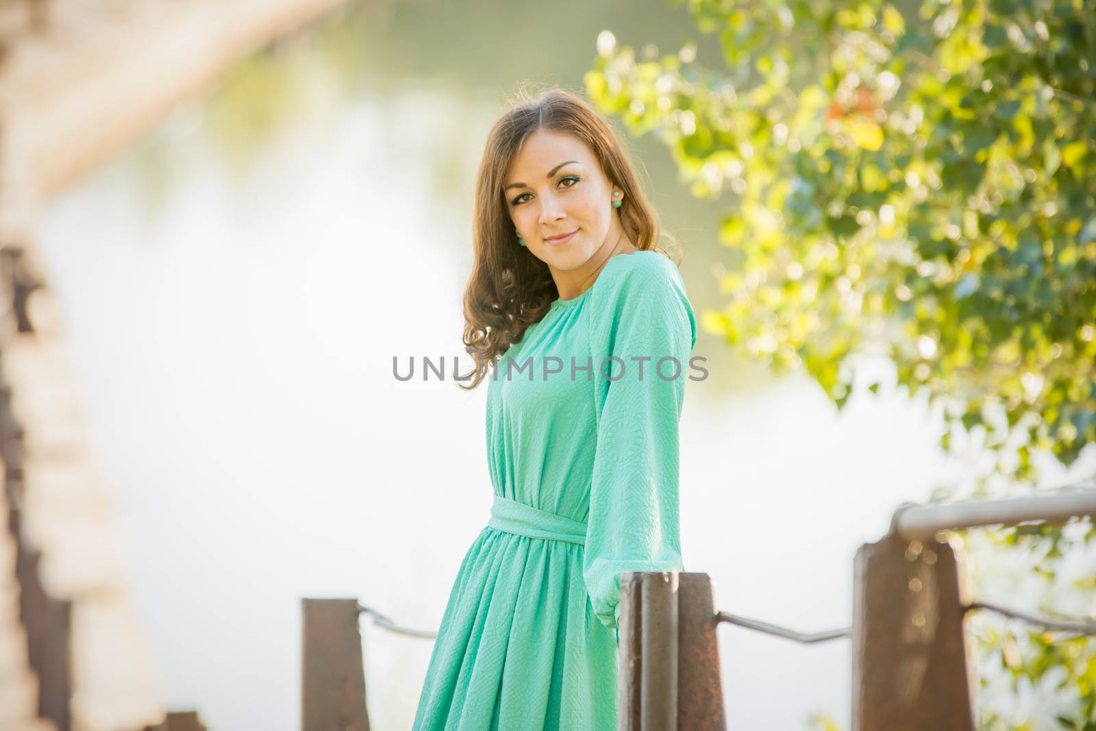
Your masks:
<path fill-rule="evenodd" d="M 803 644 L 849 639 L 852 731 L 973 731 L 963 619 L 985 610 L 1049 631 L 1096 635 L 1096 621 L 1052 619 L 989 602 L 964 603 L 950 530 L 1062 523 L 1096 517 L 1096 490 L 938 505 L 903 504 L 890 532 L 854 561 L 853 623 L 801 632 L 715 608 L 706 573 L 625 572 L 620 576 L 621 731 L 726 729 L 716 630 L 720 624 Z M 419 639 L 356 599 L 304 599 L 306 731 L 368 731 L 358 617 Z"/>

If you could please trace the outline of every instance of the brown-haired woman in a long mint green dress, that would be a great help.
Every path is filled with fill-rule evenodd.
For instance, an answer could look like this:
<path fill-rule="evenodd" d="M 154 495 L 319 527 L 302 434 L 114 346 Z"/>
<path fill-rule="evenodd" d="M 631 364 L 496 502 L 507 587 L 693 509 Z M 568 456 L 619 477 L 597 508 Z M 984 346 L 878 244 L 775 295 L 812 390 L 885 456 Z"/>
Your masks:
<path fill-rule="evenodd" d="M 413 728 L 616 729 L 620 573 L 683 570 L 677 423 L 696 319 L 606 122 L 550 90 L 491 129 L 465 343 L 494 503 Z"/>

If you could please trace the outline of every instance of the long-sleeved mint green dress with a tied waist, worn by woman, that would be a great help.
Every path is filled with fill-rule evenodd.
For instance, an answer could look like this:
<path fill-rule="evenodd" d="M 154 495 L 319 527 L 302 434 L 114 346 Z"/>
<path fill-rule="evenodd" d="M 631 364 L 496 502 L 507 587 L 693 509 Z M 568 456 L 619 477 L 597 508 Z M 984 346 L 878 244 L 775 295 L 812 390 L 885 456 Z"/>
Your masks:
<path fill-rule="evenodd" d="M 695 344 L 677 266 L 637 251 L 552 302 L 489 374 L 494 502 L 414 731 L 615 731 L 620 573 L 684 570 L 677 425 Z"/>

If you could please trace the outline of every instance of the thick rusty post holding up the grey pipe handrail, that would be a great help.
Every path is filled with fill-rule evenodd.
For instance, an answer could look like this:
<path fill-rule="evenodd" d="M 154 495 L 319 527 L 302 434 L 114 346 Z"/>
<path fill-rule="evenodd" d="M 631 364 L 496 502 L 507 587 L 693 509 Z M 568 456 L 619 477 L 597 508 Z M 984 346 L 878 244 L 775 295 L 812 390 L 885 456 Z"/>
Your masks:
<path fill-rule="evenodd" d="M 951 547 L 892 534 L 854 572 L 852 731 L 973 731 Z"/>

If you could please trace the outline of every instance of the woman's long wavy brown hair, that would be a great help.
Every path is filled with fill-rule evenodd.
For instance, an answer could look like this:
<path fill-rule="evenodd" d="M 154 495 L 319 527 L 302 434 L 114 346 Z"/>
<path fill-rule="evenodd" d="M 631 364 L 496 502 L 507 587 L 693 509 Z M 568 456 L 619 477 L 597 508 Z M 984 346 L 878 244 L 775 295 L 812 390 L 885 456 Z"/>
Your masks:
<path fill-rule="evenodd" d="M 639 250 L 655 249 L 661 230 L 659 215 L 643 195 L 631 162 L 608 123 L 582 98 L 559 88 L 530 96 L 521 92 L 511 108 L 491 128 L 476 176 L 472 221 L 475 260 L 465 288 L 465 350 L 475 361 L 471 390 L 487 377 L 506 350 L 520 342 L 559 297 L 548 265 L 517 243 L 506 210 L 503 178 L 525 139 L 538 129 L 569 134 L 594 153 L 609 183 L 624 191 L 617 208 L 625 233 Z M 678 256 L 678 264 L 681 260 Z"/>

